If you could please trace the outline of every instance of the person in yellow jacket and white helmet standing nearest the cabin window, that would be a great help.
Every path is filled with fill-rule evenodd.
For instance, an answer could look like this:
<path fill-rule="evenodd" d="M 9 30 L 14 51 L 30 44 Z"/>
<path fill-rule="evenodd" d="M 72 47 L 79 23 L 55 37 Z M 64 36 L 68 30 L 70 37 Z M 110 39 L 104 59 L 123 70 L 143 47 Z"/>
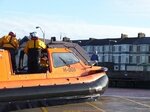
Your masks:
<path fill-rule="evenodd" d="M 40 71 L 41 50 L 46 48 L 46 45 L 41 41 L 36 32 L 30 33 L 31 40 L 26 43 L 24 52 L 28 55 L 28 72 L 38 73 Z"/>

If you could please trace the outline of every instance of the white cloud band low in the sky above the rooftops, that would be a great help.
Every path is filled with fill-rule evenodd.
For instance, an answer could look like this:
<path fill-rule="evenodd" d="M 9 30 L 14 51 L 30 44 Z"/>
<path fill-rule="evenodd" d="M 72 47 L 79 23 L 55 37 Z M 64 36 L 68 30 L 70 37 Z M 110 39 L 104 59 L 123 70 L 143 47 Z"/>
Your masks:
<path fill-rule="evenodd" d="M 18 16 L 17 16 L 18 17 Z M 7 34 L 9 31 L 15 31 L 19 38 L 28 35 L 29 32 L 38 31 L 39 35 L 42 33 L 36 26 L 40 26 L 46 34 L 46 38 L 56 36 L 70 37 L 71 39 L 88 39 L 93 38 L 119 38 L 121 33 L 128 34 L 129 37 L 136 37 L 138 32 L 144 32 L 150 36 L 150 28 L 136 28 L 136 27 L 120 27 L 109 25 L 93 25 L 82 21 L 67 22 L 62 18 L 50 17 L 13 17 L 0 18 L 0 36 Z"/>

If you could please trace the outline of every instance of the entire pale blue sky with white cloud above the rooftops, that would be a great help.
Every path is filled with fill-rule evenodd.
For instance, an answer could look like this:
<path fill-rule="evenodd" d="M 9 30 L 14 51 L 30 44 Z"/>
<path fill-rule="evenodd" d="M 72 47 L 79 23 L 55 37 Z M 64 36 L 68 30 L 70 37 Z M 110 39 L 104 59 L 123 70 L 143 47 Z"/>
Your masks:
<path fill-rule="evenodd" d="M 0 36 L 19 38 L 37 31 L 46 38 L 115 38 L 121 33 L 150 36 L 149 0 L 0 0 Z"/>

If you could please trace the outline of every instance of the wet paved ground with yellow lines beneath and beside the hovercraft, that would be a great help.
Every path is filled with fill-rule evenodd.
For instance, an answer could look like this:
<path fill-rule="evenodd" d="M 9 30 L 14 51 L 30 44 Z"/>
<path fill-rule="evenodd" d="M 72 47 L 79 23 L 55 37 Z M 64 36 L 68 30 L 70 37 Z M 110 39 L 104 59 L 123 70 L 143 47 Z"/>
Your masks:
<path fill-rule="evenodd" d="M 41 107 L 16 112 L 150 112 L 150 90 L 109 88 L 95 102 Z"/>

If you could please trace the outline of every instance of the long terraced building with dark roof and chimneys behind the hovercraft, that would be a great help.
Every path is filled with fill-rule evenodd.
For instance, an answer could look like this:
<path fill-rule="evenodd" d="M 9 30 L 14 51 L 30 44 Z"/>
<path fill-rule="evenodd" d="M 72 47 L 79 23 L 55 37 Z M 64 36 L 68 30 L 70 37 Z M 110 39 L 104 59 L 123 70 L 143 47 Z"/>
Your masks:
<path fill-rule="evenodd" d="M 91 55 L 97 51 L 99 63 L 108 63 L 113 71 L 150 71 L 150 37 L 138 33 L 137 37 L 89 39 L 73 41 Z"/>

